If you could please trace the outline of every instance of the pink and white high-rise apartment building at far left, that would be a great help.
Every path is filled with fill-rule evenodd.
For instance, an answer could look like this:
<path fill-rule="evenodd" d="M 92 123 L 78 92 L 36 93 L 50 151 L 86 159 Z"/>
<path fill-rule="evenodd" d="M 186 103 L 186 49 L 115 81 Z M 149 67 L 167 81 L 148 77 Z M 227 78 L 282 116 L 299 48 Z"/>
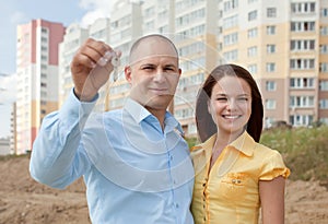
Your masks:
<path fill-rule="evenodd" d="M 60 23 L 33 20 L 17 26 L 16 154 L 32 149 L 45 115 L 58 108 Z"/>

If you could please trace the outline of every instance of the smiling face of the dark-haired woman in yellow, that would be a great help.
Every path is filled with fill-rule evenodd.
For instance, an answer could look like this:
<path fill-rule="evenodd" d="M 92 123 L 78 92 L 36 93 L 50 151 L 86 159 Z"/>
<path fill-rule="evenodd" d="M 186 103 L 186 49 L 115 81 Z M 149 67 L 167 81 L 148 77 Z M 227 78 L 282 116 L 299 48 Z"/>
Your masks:
<path fill-rule="evenodd" d="M 251 114 L 250 86 L 241 78 L 223 76 L 213 86 L 208 109 L 219 133 L 239 135 Z"/>

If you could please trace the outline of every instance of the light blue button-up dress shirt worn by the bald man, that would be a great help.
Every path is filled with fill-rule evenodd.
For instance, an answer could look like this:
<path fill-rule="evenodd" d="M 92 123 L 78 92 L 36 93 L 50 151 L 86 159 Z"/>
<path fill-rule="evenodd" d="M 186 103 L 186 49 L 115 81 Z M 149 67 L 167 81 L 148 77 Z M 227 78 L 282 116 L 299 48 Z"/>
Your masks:
<path fill-rule="evenodd" d="M 103 114 L 91 113 L 95 101 L 71 93 L 44 118 L 32 177 L 62 189 L 83 176 L 92 223 L 192 224 L 194 168 L 177 120 L 166 113 L 162 130 L 132 99 Z"/>

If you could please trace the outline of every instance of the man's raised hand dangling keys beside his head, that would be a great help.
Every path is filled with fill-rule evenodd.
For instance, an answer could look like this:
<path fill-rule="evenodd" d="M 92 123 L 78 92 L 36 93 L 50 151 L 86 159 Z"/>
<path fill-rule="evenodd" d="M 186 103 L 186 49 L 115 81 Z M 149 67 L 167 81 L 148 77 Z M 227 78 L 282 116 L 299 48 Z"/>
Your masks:
<path fill-rule="evenodd" d="M 89 38 L 81 46 L 71 63 L 74 93 L 80 101 L 94 98 L 98 90 L 107 82 L 114 66 L 118 64 L 119 57 L 120 52 L 115 52 L 104 42 Z"/>

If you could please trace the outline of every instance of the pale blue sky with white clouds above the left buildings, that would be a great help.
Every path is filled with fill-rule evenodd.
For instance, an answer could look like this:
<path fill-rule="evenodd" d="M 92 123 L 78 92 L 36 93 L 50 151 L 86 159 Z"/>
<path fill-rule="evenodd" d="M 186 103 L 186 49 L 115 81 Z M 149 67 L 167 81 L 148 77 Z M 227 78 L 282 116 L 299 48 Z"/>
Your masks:
<path fill-rule="evenodd" d="M 0 0 L 0 138 L 9 135 L 10 106 L 15 98 L 16 26 L 43 19 L 68 26 L 109 16 L 117 0 Z M 1 75 L 2 73 L 9 75 Z"/>

